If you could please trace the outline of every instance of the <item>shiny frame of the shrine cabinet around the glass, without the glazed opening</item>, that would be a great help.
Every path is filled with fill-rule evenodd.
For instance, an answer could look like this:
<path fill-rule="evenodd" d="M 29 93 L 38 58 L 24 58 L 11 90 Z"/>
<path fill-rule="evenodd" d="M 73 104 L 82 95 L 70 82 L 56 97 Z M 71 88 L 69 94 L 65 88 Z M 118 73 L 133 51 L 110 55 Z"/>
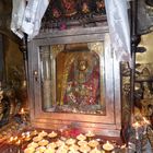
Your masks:
<path fill-rule="evenodd" d="M 62 126 L 78 122 L 83 131 L 94 130 L 95 133 L 108 137 L 120 137 L 121 99 L 120 67 L 114 58 L 107 40 L 108 27 L 92 27 L 40 33 L 28 43 L 28 95 L 32 125 L 36 128 L 59 129 Z M 39 46 L 104 42 L 105 47 L 105 103 L 106 116 L 45 113 L 42 109 L 42 85 L 39 66 Z"/>

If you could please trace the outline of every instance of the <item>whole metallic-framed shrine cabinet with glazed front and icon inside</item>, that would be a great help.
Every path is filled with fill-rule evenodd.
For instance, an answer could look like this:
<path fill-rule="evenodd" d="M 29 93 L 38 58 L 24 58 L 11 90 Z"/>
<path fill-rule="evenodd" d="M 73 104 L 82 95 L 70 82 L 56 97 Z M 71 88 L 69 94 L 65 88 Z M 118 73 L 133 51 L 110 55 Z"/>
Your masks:
<path fill-rule="evenodd" d="M 28 43 L 28 75 L 34 127 L 120 136 L 120 70 L 107 26 L 40 33 Z"/>

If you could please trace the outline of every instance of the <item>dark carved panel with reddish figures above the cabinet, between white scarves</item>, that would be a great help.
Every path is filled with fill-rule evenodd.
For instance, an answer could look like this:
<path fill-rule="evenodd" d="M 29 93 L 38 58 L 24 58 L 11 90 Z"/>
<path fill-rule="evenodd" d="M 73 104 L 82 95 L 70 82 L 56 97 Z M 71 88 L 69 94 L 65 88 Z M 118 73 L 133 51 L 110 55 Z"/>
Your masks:
<path fill-rule="evenodd" d="M 42 28 L 67 30 L 106 23 L 104 0 L 51 0 Z"/>

